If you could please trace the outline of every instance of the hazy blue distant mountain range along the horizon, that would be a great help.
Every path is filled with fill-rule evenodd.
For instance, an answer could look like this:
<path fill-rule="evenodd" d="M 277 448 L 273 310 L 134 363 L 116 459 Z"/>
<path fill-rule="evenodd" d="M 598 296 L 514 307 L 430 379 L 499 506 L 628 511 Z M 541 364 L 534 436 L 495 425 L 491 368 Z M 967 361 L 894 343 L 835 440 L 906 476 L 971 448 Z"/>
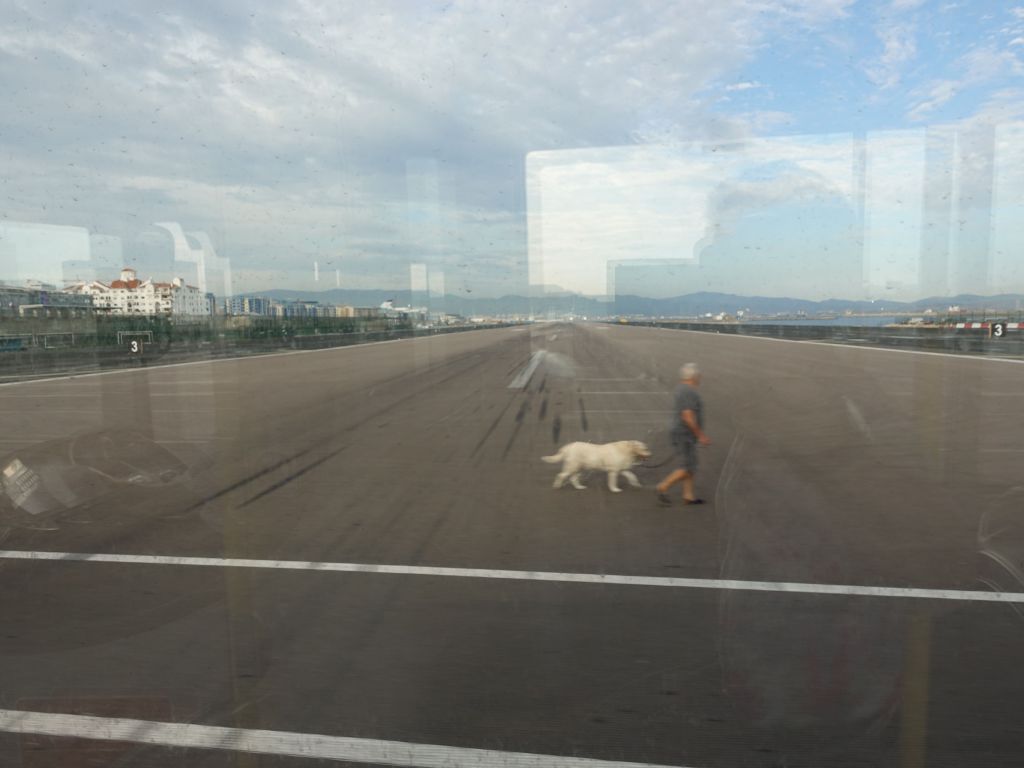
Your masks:
<path fill-rule="evenodd" d="M 850 301 L 846 299 L 775 298 L 768 296 L 737 296 L 727 293 L 693 293 L 669 299 L 651 299 L 642 296 L 616 296 L 611 300 L 597 299 L 571 293 L 551 293 L 543 296 L 501 296 L 499 298 L 469 298 L 446 295 L 429 300 L 411 291 L 346 290 L 330 291 L 273 291 L 245 294 L 247 296 L 267 296 L 279 301 L 318 301 L 325 304 L 351 306 L 380 306 L 387 300 L 395 306 L 423 306 L 429 304 L 436 311 L 446 311 L 464 316 L 497 314 L 548 313 L 578 315 L 625 314 L 648 317 L 693 317 L 708 312 L 735 313 L 743 310 L 751 314 L 842 314 L 919 312 L 926 309 L 944 312 L 950 306 L 965 310 L 995 309 L 1000 311 L 1024 310 L 1024 294 L 999 294 L 996 296 L 932 296 L 919 301 Z"/>

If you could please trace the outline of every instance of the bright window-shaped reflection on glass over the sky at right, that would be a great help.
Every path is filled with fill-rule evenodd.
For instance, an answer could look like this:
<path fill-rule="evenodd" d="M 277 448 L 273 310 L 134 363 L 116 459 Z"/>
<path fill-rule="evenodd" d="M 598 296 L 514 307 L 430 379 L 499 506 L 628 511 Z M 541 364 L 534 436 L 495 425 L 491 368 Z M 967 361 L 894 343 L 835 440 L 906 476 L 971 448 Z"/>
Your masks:
<path fill-rule="evenodd" d="M 530 285 L 915 301 L 1024 290 L 1019 123 L 531 153 Z M 996 139 L 998 136 L 999 139 Z"/>

